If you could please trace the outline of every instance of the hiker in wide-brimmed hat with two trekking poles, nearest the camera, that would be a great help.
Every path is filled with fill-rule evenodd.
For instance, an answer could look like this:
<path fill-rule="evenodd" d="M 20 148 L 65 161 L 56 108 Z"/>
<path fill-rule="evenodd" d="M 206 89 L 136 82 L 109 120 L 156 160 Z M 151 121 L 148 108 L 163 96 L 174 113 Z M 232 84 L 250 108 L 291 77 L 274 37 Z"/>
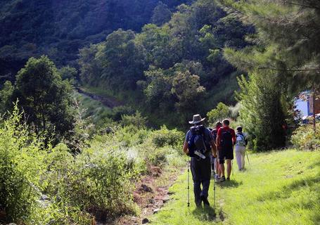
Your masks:
<path fill-rule="evenodd" d="M 191 157 L 193 192 L 197 207 L 200 207 L 202 202 L 203 205 L 210 206 L 207 200 L 211 178 L 210 155 L 217 157 L 212 134 L 203 126 L 204 120 L 200 115 L 193 115 L 193 120 L 189 121 L 193 127 L 186 133 L 184 141 L 184 153 Z"/>

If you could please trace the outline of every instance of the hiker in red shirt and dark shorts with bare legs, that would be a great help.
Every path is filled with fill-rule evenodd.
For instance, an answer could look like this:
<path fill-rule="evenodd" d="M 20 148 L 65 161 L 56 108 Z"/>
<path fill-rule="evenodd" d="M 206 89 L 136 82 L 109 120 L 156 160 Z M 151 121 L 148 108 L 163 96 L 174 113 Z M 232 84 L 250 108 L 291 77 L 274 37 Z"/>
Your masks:
<path fill-rule="evenodd" d="M 236 143 L 236 133 L 229 127 L 229 120 L 222 121 L 223 127 L 220 127 L 217 134 L 217 149 L 219 155 L 219 169 L 221 170 L 221 179 L 230 180 L 231 160 L 233 160 L 233 146 Z M 224 176 L 224 160 L 226 160 L 226 177 Z"/>

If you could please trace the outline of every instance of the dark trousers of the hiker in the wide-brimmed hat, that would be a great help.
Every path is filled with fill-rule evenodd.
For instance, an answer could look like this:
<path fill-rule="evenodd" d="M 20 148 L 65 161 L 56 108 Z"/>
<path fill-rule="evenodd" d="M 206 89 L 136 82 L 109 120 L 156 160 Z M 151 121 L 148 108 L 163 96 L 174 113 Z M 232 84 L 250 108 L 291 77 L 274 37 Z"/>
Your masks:
<path fill-rule="evenodd" d="M 201 198 L 207 198 L 208 196 L 211 178 L 210 157 L 205 158 L 205 160 L 191 158 L 191 173 L 193 178 L 194 197 L 196 204 L 198 205 L 201 203 Z"/>

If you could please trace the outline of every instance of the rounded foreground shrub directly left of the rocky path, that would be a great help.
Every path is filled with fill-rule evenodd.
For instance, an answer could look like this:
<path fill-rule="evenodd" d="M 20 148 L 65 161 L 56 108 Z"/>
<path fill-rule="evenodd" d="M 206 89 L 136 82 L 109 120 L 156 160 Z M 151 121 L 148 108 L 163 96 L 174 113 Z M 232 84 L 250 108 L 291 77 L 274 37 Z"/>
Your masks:
<path fill-rule="evenodd" d="M 77 156 L 75 167 L 65 181 L 65 198 L 101 217 L 131 211 L 132 180 L 139 169 L 128 164 L 124 152 L 89 148 Z"/>

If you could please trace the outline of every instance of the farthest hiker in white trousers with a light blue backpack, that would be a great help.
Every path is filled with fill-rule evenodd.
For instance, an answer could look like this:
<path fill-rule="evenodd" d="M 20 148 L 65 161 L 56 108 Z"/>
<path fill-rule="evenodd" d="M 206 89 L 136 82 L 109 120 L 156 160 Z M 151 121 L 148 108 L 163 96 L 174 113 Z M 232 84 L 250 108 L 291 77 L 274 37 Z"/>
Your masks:
<path fill-rule="evenodd" d="M 239 171 L 245 169 L 245 146 L 248 144 L 248 140 L 245 137 L 245 134 L 242 132 L 242 127 L 237 127 L 236 134 L 236 160 L 238 164 Z"/>

